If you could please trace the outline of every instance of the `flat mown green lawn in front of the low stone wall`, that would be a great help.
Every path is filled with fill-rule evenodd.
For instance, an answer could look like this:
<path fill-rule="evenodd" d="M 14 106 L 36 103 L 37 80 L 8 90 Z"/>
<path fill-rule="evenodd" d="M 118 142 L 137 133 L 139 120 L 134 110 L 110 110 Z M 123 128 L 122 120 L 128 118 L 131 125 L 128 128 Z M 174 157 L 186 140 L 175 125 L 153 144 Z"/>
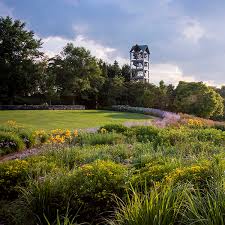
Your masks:
<path fill-rule="evenodd" d="M 34 129 L 92 128 L 109 123 L 143 121 L 152 117 L 106 110 L 2 110 L 0 124 L 15 120 Z"/>

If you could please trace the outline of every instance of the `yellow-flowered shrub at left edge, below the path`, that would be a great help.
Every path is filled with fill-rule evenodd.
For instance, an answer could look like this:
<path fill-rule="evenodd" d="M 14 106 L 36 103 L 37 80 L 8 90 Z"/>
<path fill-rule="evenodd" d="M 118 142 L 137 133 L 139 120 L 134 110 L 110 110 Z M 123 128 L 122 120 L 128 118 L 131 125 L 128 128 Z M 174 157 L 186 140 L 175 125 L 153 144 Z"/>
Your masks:
<path fill-rule="evenodd" d="M 18 195 L 17 186 L 23 186 L 27 178 L 29 164 L 25 160 L 0 163 L 0 196 L 14 199 Z"/>

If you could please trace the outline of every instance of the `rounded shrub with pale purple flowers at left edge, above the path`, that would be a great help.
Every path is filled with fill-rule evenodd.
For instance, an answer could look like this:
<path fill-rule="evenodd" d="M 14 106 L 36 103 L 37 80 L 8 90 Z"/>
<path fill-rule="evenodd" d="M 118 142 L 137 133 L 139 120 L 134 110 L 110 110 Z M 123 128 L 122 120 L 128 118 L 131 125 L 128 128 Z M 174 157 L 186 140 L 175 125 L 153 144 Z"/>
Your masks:
<path fill-rule="evenodd" d="M 0 131 L 0 155 L 23 150 L 25 144 L 15 133 Z"/>

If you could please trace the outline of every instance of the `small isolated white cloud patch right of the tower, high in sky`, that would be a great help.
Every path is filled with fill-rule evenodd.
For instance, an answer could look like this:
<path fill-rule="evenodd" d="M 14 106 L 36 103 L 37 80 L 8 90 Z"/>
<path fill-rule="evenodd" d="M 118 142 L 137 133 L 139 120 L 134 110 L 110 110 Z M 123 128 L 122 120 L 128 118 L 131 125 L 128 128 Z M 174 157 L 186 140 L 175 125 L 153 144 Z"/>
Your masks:
<path fill-rule="evenodd" d="M 196 20 L 190 19 L 186 21 L 183 26 L 182 35 L 188 41 L 197 43 L 205 35 L 204 28 Z"/>

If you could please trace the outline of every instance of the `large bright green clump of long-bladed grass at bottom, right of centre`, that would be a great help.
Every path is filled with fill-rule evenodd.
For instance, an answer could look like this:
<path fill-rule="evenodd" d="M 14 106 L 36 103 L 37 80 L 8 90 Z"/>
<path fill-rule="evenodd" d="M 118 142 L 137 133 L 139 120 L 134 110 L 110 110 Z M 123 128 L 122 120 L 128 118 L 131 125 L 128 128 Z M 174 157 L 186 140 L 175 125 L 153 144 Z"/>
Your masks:
<path fill-rule="evenodd" d="M 179 221 L 184 190 L 181 187 L 155 186 L 140 194 L 133 190 L 127 201 L 118 203 L 110 225 L 173 225 Z"/>

